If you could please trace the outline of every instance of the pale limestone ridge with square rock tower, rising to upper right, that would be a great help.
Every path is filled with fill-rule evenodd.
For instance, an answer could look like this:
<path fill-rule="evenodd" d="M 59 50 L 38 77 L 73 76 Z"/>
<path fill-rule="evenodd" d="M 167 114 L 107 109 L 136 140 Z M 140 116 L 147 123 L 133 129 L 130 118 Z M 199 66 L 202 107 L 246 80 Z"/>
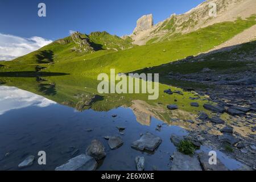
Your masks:
<path fill-rule="evenodd" d="M 216 6 L 216 16 L 210 11 Z M 247 18 L 256 13 L 255 0 L 208 0 L 187 13 L 172 14 L 163 22 L 153 26 L 152 15 L 144 15 L 138 19 L 131 38 L 134 44 L 144 45 L 152 38 L 154 42 L 166 41 L 176 33 L 185 34 L 214 23 L 234 21 L 237 18 Z"/>

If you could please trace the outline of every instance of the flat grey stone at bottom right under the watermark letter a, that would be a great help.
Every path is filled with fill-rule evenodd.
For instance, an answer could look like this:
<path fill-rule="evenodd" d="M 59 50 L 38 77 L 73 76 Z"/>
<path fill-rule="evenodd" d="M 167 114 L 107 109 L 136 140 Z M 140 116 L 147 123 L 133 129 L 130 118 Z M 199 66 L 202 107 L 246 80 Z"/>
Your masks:
<path fill-rule="evenodd" d="M 199 153 L 199 160 L 204 171 L 228 171 L 228 168 L 219 159 L 217 159 L 216 165 L 209 164 L 209 158 L 210 156 L 207 153 Z"/>

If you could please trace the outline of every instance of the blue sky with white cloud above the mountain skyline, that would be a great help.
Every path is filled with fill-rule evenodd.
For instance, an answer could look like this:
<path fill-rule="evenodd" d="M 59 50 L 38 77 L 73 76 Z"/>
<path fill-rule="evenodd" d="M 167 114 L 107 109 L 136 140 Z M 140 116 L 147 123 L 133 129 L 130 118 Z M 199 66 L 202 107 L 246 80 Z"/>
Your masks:
<path fill-rule="evenodd" d="M 0 60 L 26 55 L 70 31 L 131 34 L 137 19 L 153 14 L 158 23 L 204 0 L 0 0 Z M 46 17 L 38 4 L 46 4 Z"/>

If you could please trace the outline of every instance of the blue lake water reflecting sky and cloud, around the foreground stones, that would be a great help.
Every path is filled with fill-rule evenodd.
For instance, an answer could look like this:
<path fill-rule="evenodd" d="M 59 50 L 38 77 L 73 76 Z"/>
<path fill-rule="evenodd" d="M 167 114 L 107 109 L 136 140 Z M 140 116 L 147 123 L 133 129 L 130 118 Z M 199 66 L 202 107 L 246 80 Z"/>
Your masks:
<path fill-rule="evenodd" d="M 113 118 L 113 114 L 117 117 Z M 159 124 L 161 131 L 156 131 Z M 125 127 L 125 134 L 120 134 L 117 127 Z M 151 153 L 131 148 L 131 143 L 147 131 L 162 138 L 159 148 Z M 176 151 L 170 140 L 172 134 L 187 135 L 187 131 L 154 117 L 148 125 L 143 125 L 129 107 L 77 111 L 25 90 L 0 86 L 0 170 L 54 170 L 72 157 L 85 153 L 93 139 L 100 140 L 107 153 L 97 170 L 135 170 L 138 155 L 144 156 L 146 170 L 170 170 L 170 155 Z M 110 150 L 104 139 L 108 135 L 122 137 L 123 145 Z M 75 150 L 71 151 L 71 147 Z M 201 150 L 210 151 L 210 148 L 202 146 Z M 37 163 L 39 151 L 46 151 L 47 165 Z M 241 166 L 222 152 L 217 154 L 229 169 Z M 19 169 L 18 164 L 28 155 L 36 156 L 34 164 Z"/>

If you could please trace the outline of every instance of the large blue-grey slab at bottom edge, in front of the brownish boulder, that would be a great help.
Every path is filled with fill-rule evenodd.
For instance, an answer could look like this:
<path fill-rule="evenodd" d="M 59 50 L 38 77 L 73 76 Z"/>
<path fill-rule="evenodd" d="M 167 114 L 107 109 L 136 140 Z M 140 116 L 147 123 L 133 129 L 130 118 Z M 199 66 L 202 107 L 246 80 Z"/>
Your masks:
<path fill-rule="evenodd" d="M 56 167 L 55 171 L 94 171 L 96 168 L 97 162 L 94 158 L 81 154 L 69 159 L 67 163 Z"/>

